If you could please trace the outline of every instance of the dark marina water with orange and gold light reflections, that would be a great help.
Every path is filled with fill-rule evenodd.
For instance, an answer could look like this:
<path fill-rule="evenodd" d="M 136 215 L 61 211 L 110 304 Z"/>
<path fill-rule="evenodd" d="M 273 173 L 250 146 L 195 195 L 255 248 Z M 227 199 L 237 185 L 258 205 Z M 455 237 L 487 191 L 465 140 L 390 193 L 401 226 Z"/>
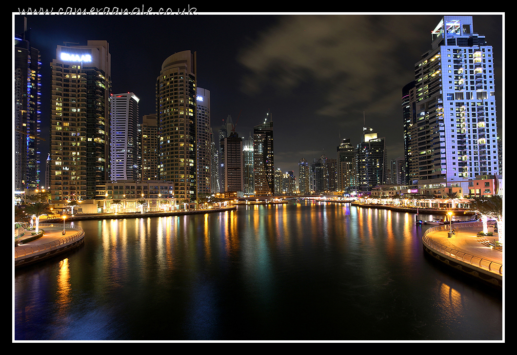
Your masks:
<path fill-rule="evenodd" d="M 76 221 L 84 246 L 14 272 L 14 340 L 503 339 L 501 292 L 425 256 L 414 221 L 325 202 Z"/>

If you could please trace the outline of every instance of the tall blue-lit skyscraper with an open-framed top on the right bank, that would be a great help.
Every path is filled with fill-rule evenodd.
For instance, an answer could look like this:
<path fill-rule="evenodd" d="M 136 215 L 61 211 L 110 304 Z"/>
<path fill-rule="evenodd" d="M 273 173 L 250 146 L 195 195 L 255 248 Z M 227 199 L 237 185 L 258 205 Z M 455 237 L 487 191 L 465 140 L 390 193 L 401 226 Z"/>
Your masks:
<path fill-rule="evenodd" d="M 406 160 L 409 180 L 461 184 L 497 174 L 497 115 L 492 47 L 474 33 L 471 16 L 444 16 L 432 48 L 415 64 L 416 123 Z M 408 158 L 409 157 L 409 158 Z"/>

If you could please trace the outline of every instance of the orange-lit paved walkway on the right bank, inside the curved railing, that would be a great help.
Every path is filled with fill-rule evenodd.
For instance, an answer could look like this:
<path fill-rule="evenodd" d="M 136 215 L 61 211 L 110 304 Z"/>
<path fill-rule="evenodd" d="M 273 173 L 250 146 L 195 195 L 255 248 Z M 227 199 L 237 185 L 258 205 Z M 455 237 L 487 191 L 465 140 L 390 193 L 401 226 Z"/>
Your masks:
<path fill-rule="evenodd" d="M 459 224 L 452 224 L 452 229 L 455 230 L 455 234 L 453 234 L 451 238 L 448 238 L 447 236 L 449 228 L 446 230 L 430 232 L 428 237 L 436 243 L 445 245 L 452 249 L 457 249 L 463 253 L 503 264 L 502 249 L 493 249 L 480 243 L 483 239 L 491 243 L 493 243 L 494 240 L 497 241 L 497 234 L 494 236 L 480 237 L 477 233 L 483 229 L 482 227 L 459 228 Z"/>

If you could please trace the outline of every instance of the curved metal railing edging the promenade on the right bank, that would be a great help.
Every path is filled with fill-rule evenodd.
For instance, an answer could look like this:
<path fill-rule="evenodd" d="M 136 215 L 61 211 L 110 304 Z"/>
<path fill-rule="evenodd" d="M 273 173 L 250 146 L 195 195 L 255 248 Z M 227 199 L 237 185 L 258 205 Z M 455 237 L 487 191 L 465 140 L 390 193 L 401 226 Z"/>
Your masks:
<path fill-rule="evenodd" d="M 480 227 L 481 224 L 478 222 L 472 222 L 472 223 L 461 223 L 461 224 L 455 224 L 454 228 L 466 228 L 466 227 Z M 449 229 L 448 225 L 443 226 L 437 226 L 433 228 L 429 228 L 426 230 L 422 236 L 422 242 L 427 245 L 428 247 L 436 250 L 436 252 L 449 256 L 451 258 L 454 258 L 459 261 L 463 261 L 467 264 L 473 265 L 475 267 L 478 267 L 480 269 L 488 270 L 490 272 L 493 272 L 498 275 L 503 275 L 503 264 L 500 264 L 495 261 L 483 259 L 480 257 L 477 257 L 475 255 L 470 255 L 464 252 L 461 252 L 461 250 L 454 249 L 448 246 L 445 246 L 443 244 L 437 243 L 433 241 L 431 238 L 429 238 L 428 234 L 431 232 L 436 232 L 440 230 L 447 230 Z"/>

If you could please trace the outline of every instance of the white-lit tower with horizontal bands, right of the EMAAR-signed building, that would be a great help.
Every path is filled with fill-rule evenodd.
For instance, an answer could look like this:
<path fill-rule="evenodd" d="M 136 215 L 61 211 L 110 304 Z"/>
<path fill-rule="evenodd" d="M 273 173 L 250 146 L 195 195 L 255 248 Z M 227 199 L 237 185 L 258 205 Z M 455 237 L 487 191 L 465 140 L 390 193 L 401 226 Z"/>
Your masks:
<path fill-rule="evenodd" d="M 111 181 L 139 180 L 139 101 L 133 93 L 111 97 Z"/>

